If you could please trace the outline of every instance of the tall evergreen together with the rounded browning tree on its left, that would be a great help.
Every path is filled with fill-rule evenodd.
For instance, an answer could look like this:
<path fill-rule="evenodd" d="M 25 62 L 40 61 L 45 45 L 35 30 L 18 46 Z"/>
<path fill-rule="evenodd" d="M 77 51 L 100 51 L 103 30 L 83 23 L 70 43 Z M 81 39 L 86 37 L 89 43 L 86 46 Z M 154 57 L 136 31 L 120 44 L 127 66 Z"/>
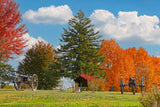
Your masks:
<path fill-rule="evenodd" d="M 60 76 L 75 79 L 92 72 L 100 75 L 101 62 L 104 60 L 100 50 L 100 35 L 95 32 L 91 20 L 82 11 L 69 20 L 68 29 L 64 28 L 60 49 L 54 50 L 49 43 L 39 42 L 25 54 L 17 73 L 39 78 L 39 89 L 56 87 Z"/>

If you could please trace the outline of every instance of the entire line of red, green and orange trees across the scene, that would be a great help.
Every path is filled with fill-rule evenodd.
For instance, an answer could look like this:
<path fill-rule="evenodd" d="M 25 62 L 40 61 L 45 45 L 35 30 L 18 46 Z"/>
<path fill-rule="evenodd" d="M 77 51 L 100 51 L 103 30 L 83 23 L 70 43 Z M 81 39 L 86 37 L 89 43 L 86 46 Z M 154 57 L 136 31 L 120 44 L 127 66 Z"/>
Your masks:
<path fill-rule="evenodd" d="M 12 54 L 21 54 L 26 41 L 25 25 L 18 26 L 21 14 L 12 0 L 0 3 L 0 82 L 12 79 L 14 70 L 6 62 Z M 17 27 L 18 26 L 18 27 Z M 68 22 L 61 36 L 60 49 L 38 42 L 29 49 L 19 63 L 16 73 L 39 77 L 39 89 L 52 89 L 61 76 L 82 76 L 97 86 L 97 90 L 120 90 L 120 77 L 124 82 L 133 77 L 140 83 L 144 77 L 146 89 L 159 83 L 160 58 L 150 56 L 144 48 L 122 49 L 114 40 L 101 40 L 91 20 L 80 10 Z M 6 79 L 7 78 L 7 79 Z M 1 82 L 2 83 L 2 82 Z M 103 83 L 103 84 L 102 84 Z M 126 88 L 125 90 L 129 90 Z M 139 89 L 137 89 L 139 90 Z"/>

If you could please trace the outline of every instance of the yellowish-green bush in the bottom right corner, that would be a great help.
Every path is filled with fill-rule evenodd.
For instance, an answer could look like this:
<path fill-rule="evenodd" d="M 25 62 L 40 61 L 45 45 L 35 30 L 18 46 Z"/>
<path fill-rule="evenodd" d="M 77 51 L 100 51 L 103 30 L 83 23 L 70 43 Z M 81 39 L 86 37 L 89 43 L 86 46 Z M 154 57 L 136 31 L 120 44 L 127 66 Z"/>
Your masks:
<path fill-rule="evenodd" d="M 160 89 L 153 87 L 138 98 L 144 107 L 160 107 Z"/>

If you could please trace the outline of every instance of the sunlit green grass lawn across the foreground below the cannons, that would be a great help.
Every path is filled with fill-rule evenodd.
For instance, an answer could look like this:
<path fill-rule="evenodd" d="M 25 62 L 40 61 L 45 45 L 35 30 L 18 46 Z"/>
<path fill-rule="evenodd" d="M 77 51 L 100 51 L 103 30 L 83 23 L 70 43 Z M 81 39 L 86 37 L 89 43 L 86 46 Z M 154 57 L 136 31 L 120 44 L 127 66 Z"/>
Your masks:
<path fill-rule="evenodd" d="M 61 91 L 2 91 L 0 107 L 113 107 L 141 106 L 140 93 L 130 92 L 61 92 Z"/>

